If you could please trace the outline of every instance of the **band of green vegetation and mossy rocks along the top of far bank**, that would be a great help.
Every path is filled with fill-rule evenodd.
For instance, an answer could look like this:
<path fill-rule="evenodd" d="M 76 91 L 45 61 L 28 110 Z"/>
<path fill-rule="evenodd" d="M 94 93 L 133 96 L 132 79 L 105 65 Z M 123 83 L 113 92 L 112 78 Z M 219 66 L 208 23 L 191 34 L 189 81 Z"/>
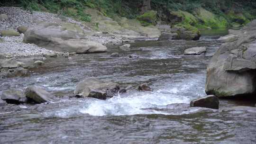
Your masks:
<path fill-rule="evenodd" d="M 86 9 L 96 9 L 111 18 L 137 18 L 145 27 L 161 20 L 192 30 L 239 27 L 256 18 L 255 0 L 151 0 L 152 10 L 141 14 L 142 3 L 143 0 L 1 0 L 0 6 L 21 6 L 85 22 L 92 17 Z"/>

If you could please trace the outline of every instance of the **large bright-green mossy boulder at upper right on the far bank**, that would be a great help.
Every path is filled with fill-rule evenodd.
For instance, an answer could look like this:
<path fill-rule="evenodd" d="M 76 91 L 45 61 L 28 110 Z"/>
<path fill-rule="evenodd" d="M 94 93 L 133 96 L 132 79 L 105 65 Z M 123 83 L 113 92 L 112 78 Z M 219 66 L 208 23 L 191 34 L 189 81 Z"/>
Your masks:
<path fill-rule="evenodd" d="M 229 25 L 228 21 L 223 17 L 217 17 L 215 14 L 211 13 L 210 11 L 199 8 L 196 9 L 194 12 L 199 18 L 200 22 L 203 26 L 211 27 L 211 28 L 220 28 L 220 27 L 227 27 Z"/>

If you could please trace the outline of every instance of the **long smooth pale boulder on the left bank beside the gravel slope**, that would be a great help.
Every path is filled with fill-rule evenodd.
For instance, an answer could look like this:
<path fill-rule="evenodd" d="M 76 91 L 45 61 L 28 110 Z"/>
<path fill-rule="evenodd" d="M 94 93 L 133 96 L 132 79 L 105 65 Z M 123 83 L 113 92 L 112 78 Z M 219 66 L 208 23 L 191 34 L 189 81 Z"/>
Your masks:
<path fill-rule="evenodd" d="M 43 22 L 35 27 L 29 27 L 23 41 L 65 53 L 85 54 L 107 51 L 106 46 L 98 42 L 87 41 L 80 29 L 71 26 Z"/>

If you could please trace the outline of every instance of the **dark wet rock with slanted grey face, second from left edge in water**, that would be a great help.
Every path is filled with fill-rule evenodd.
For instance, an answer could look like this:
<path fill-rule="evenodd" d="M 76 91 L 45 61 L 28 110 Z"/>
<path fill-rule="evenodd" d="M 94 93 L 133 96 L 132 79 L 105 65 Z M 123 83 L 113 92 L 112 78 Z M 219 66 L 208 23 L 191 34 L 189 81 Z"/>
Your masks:
<path fill-rule="evenodd" d="M 54 96 L 37 86 L 29 86 L 25 91 L 25 95 L 29 102 L 45 103 L 54 100 Z"/>

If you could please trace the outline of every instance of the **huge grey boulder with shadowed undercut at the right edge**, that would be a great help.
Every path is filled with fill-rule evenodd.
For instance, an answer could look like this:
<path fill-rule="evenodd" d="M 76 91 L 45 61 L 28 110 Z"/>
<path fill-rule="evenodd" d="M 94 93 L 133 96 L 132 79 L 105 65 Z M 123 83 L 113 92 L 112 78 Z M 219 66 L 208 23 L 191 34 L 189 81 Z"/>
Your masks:
<path fill-rule="evenodd" d="M 256 94 L 256 20 L 238 40 L 224 43 L 207 67 L 205 91 L 217 97 Z"/>

